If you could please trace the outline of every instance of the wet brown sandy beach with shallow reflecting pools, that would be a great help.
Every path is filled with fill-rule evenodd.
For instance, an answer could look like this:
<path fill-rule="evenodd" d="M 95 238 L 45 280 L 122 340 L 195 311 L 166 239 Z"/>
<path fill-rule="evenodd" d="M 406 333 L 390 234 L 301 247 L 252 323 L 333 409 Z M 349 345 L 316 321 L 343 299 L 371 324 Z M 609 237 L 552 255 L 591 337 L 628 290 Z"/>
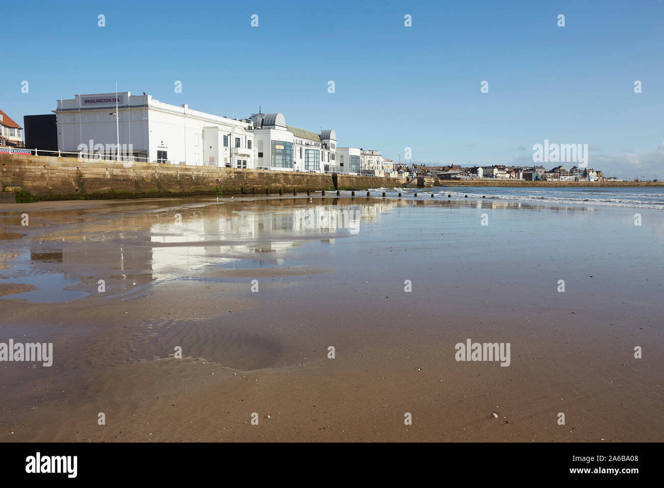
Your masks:
<path fill-rule="evenodd" d="M 54 359 L 0 363 L 0 440 L 661 442 L 664 218 L 640 212 L 1 205 L 0 342 Z M 511 343 L 510 365 L 456 361 L 467 339 Z"/>

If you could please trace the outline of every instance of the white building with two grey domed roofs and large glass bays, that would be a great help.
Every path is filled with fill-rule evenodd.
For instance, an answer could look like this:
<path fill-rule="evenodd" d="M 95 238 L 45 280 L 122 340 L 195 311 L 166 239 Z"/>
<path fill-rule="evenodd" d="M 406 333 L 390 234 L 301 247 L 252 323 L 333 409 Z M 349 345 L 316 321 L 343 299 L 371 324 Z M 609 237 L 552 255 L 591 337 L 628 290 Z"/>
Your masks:
<path fill-rule="evenodd" d="M 337 134 L 332 129 L 313 131 L 286 125 L 280 112 L 252 114 L 256 139 L 256 167 L 280 171 L 335 171 Z"/>

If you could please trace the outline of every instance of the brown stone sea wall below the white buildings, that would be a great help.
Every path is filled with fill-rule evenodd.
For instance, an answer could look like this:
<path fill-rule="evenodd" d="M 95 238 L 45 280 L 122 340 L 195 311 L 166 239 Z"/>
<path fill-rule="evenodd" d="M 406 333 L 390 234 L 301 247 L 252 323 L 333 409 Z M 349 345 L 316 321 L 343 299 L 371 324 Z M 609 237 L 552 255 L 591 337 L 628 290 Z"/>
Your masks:
<path fill-rule="evenodd" d="M 398 187 L 406 180 L 0 153 L 3 201 L 292 194 Z"/>

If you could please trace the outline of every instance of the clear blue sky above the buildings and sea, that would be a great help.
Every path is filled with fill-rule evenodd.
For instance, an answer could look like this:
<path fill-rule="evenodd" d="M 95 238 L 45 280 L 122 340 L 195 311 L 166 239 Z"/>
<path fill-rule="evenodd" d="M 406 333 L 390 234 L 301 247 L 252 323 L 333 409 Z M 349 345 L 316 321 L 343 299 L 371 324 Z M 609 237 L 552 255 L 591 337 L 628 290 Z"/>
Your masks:
<path fill-rule="evenodd" d="M 3 3 L 19 56 L 0 72 L 0 108 L 21 125 L 117 81 L 220 116 L 261 106 L 394 160 L 410 147 L 417 163 L 527 165 L 549 139 L 587 143 L 605 175 L 664 178 L 663 1 L 26 6 Z"/>

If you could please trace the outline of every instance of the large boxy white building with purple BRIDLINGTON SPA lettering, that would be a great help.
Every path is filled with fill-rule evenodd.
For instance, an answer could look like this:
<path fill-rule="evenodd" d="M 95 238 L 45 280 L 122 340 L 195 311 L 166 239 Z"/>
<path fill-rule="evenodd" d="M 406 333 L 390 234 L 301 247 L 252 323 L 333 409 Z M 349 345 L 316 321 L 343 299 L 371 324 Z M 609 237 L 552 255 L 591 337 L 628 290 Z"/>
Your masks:
<path fill-rule="evenodd" d="M 117 104 L 117 115 L 116 115 Z M 58 149 L 116 155 L 124 160 L 254 167 L 248 120 L 232 120 L 131 92 L 58 100 Z"/>

